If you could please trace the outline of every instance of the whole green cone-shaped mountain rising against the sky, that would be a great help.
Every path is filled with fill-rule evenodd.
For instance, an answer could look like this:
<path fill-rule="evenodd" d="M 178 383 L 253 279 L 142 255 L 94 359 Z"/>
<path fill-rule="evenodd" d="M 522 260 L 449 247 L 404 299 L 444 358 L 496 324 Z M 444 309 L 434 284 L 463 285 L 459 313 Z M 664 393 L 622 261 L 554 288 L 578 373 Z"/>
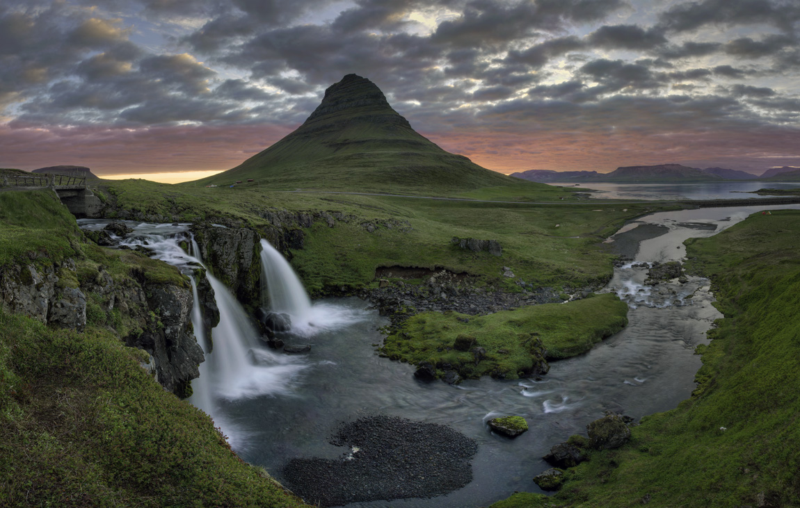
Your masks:
<path fill-rule="evenodd" d="M 234 169 L 192 183 L 230 185 L 248 179 L 270 189 L 414 194 L 521 184 L 422 137 L 378 86 L 355 74 L 326 89 L 322 103 L 293 133 Z"/>

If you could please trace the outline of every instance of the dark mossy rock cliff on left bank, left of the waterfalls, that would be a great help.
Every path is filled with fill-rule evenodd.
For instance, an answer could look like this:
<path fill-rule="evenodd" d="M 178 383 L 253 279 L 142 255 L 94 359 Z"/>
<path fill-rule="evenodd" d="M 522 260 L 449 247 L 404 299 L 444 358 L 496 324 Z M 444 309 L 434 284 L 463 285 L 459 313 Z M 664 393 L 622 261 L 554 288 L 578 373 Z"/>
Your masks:
<path fill-rule="evenodd" d="M 9 312 L 78 331 L 87 323 L 118 325 L 113 329 L 128 346 L 150 355 L 148 368 L 158 383 L 180 397 L 190 395 L 191 379 L 199 375 L 203 355 L 192 330 L 188 285 L 135 278 L 117 282 L 102 266 L 78 274 L 74 260 L 38 260 L 0 268 L 0 304 Z"/>

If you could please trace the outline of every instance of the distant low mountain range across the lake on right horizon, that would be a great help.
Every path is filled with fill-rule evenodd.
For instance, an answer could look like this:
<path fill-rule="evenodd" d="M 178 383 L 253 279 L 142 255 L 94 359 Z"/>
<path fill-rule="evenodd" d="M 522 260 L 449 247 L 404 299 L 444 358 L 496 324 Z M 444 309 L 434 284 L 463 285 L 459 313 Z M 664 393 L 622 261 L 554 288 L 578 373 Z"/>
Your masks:
<path fill-rule="evenodd" d="M 796 173 L 796 174 L 795 174 Z M 767 169 L 760 177 L 745 171 L 725 168 L 690 168 L 679 164 L 661 164 L 653 166 L 622 166 L 611 173 L 596 171 L 550 171 L 546 169 L 530 169 L 521 173 L 512 173 L 511 177 L 538 182 L 702 182 L 725 180 L 800 180 L 800 169 L 784 166 Z"/>

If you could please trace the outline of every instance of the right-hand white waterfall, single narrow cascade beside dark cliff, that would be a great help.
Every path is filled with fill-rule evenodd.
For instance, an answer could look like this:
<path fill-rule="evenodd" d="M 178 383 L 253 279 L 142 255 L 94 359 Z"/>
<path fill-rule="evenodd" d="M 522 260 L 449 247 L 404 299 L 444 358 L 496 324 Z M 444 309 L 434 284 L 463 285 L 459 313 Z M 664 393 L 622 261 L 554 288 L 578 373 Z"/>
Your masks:
<path fill-rule="evenodd" d="M 273 312 L 285 312 L 292 318 L 292 323 L 307 322 L 310 319 L 311 300 L 303 288 L 302 282 L 295 275 L 286 258 L 278 252 L 270 242 L 261 240 L 262 302 L 269 299 L 269 308 Z"/>

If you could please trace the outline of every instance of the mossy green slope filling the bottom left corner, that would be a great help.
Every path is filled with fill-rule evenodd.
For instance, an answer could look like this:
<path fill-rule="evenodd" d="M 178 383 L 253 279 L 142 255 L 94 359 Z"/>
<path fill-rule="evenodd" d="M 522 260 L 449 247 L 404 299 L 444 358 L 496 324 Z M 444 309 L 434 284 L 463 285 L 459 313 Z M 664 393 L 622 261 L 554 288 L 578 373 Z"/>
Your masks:
<path fill-rule="evenodd" d="M 305 506 L 140 355 L 0 311 L 0 506 Z"/>

